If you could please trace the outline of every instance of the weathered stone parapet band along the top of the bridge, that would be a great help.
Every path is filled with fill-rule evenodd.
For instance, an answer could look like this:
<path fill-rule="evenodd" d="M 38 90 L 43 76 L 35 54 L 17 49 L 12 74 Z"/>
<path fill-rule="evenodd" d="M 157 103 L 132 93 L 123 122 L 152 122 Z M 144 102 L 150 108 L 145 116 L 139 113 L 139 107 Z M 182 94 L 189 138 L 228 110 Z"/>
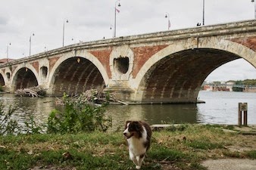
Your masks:
<path fill-rule="evenodd" d="M 56 48 L 54 50 L 34 54 L 30 57 L 23 57 L 18 60 L 11 60 L 9 63 L 1 63 L 0 68 L 5 67 L 9 64 L 19 64 L 44 57 L 51 57 L 56 54 L 64 54 L 70 51 L 80 51 L 83 49 L 105 48 L 120 45 L 135 45 L 140 43 L 145 44 L 151 42 L 164 42 L 175 39 L 190 39 L 193 37 L 199 38 L 212 36 L 230 36 L 230 38 L 235 39 L 236 37 L 241 38 L 239 36 L 240 33 L 250 34 L 252 32 L 254 35 L 255 30 L 256 20 L 246 20 L 241 22 L 223 23 L 212 26 L 198 26 L 189 29 L 177 29 L 164 32 L 147 33 L 137 36 L 120 36 L 114 39 L 103 39 L 93 42 L 80 42 L 73 45 L 67 45 L 63 48 Z"/>

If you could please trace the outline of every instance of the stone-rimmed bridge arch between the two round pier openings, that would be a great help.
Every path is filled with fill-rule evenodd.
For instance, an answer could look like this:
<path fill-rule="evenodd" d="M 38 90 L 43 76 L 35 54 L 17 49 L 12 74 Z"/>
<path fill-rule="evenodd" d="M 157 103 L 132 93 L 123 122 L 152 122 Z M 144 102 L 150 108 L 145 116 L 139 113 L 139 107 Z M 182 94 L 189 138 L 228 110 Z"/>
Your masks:
<path fill-rule="evenodd" d="M 90 88 L 103 88 L 109 78 L 104 66 L 87 51 L 70 51 L 50 70 L 48 94 L 76 94 Z"/>

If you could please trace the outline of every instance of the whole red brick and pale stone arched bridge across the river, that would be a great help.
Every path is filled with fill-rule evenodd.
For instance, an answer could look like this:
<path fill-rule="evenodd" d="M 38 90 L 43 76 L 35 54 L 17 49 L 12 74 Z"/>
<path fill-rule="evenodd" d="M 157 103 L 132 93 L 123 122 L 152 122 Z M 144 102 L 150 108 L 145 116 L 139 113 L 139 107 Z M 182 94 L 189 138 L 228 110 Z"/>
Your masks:
<path fill-rule="evenodd" d="M 126 102 L 196 103 L 204 79 L 244 58 L 256 68 L 256 20 L 83 42 L 0 65 L 7 91 L 103 88 Z"/>

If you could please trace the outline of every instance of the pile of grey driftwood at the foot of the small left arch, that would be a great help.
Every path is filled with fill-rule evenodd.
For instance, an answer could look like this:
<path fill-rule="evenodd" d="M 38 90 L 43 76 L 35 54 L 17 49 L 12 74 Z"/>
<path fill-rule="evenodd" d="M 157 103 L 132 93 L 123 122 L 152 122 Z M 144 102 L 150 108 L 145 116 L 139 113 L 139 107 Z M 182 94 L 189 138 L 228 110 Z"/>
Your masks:
<path fill-rule="evenodd" d="M 45 89 L 39 86 L 31 88 L 20 88 L 15 91 L 15 95 L 20 97 L 42 97 L 45 95 Z"/>

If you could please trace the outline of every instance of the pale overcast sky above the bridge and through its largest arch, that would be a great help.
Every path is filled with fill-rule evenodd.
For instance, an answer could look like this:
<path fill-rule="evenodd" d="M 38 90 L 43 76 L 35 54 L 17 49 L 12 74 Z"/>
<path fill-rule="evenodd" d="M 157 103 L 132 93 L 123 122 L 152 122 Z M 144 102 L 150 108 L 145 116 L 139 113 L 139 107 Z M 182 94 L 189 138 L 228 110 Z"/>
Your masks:
<path fill-rule="evenodd" d="M 204 25 L 254 19 L 251 0 L 204 0 Z M 120 3 L 120 7 L 118 7 Z M 64 45 L 186 29 L 202 23 L 203 0 L 0 0 L 0 58 L 19 59 Z M 68 23 L 64 21 L 68 20 Z M 112 29 L 110 29 L 112 27 Z M 34 36 L 33 36 L 34 35 Z M 11 45 L 9 45 L 11 43 Z M 243 59 L 214 70 L 207 81 L 256 79 L 256 68 Z"/>

